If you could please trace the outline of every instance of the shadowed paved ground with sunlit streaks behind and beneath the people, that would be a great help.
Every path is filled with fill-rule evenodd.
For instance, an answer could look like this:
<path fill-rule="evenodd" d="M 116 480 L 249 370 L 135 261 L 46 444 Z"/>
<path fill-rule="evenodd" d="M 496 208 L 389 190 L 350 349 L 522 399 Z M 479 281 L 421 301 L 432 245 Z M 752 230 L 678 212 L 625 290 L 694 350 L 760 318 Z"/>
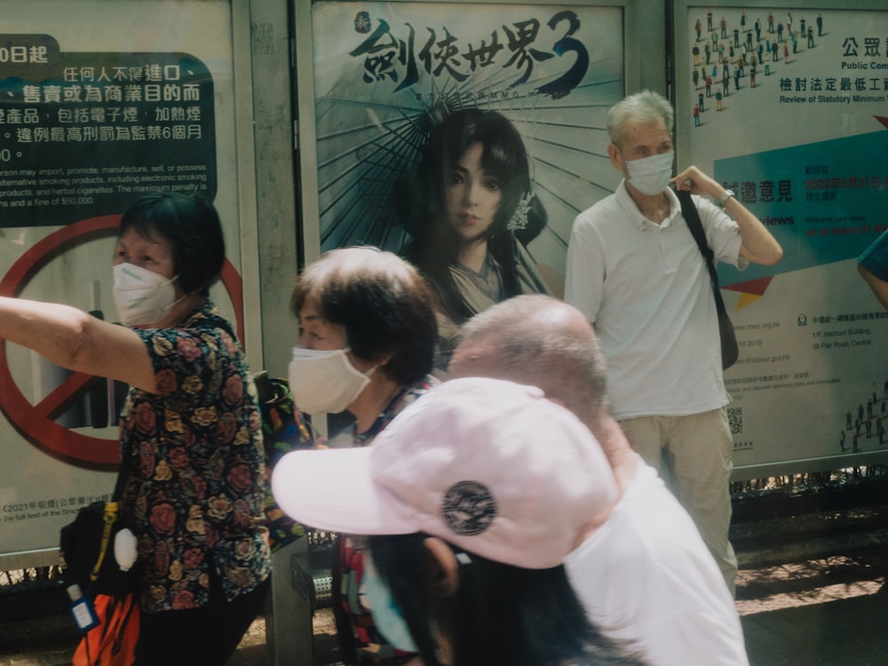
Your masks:
<path fill-rule="evenodd" d="M 886 520 L 888 507 L 733 528 L 741 561 L 737 608 L 752 666 L 888 663 Z M 314 637 L 315 666 L 332 663 L 329 611 L 315 614 Z M 0 666 L 62 666 L 76 641 L 67 614 L 4 622 Z M 273 666 L 264 619 L 253 623 L 229 666 Z"/>

